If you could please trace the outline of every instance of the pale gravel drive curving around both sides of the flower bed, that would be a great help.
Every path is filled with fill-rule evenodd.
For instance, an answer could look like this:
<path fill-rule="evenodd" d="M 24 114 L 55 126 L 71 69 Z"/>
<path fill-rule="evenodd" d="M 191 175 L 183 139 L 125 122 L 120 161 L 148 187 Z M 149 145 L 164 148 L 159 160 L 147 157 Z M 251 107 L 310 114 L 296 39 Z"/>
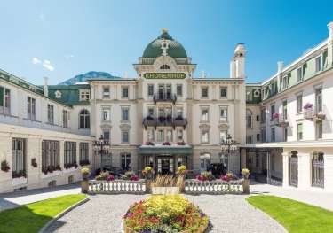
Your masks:
<path fill-rule="evenodd" d="M 91 200 L 78 206 L 46 232 L 121 233 L 122 216 L 135 201 L 148 195 L 95 195 Z M 213 229 L 210 232 L 286 232 L 268 215 L 250 206 L 243 195 L 185 195 L 210 216 Z"/>

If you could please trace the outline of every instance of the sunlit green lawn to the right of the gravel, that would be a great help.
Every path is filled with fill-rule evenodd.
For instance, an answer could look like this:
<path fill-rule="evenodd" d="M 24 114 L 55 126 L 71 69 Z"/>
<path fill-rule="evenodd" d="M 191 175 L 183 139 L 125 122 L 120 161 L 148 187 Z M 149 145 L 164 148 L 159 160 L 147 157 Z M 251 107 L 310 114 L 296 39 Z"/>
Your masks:
<path fill-rule="evenodd" d="M 290 233 L 333 232 L 333 212 L 321 207 L 266 195 L 251 196 L 247 201 L 280 222 Z"/>

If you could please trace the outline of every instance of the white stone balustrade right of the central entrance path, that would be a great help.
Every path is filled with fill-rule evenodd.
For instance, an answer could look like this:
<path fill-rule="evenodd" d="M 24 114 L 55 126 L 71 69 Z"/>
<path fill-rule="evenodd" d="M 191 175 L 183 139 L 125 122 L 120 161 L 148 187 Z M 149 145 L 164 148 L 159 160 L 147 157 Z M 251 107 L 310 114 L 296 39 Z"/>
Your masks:
<path fill-rule="evenodd" d="M 243 192 L 243 180 L 235 181 L 198 181 L 186 180 L 184 191 L 187 194 L 241 194 Z"/>

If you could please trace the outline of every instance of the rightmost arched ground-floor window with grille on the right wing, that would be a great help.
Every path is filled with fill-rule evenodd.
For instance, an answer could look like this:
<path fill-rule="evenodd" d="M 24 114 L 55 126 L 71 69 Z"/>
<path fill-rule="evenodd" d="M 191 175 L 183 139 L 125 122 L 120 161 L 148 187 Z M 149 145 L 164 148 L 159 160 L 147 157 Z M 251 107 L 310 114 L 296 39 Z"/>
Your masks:
<path fill-rule="evenodd" d="M 324 188 L 324 153 L 313 151 L 312 166 L 312 184 L 313 187 Z"/>

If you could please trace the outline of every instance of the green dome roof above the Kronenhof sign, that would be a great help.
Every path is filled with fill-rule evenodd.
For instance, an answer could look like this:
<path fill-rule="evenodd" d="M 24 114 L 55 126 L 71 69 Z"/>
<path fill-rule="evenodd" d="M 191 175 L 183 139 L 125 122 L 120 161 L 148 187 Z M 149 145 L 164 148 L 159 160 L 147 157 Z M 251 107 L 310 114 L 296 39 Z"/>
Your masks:
<path fill-rule="evenodd" d="M 163 49 L 161 47 L 163 40 L 169 43 L 169 49 L 166 50 L 168 56 L 172 58 L 187 58 L 187 53 L 183 45 L 174 40 L 166 29 L 163 29 L 162 35 L 147 45 L 142 58 L 157 58 L 162 56 Z"/>

